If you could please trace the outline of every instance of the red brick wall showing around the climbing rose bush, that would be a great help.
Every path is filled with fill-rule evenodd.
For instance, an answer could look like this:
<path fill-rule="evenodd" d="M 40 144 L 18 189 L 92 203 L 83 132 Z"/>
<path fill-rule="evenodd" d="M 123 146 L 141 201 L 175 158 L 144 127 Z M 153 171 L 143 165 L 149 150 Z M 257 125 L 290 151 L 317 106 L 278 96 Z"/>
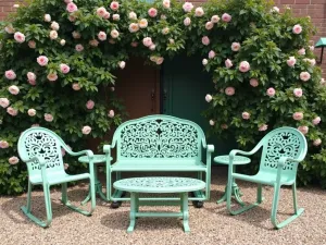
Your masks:
<path fill-rule="evenodd" d="M 294 15 L 297 16 L 308 16 L 308 15 L 311 16 L 312 22 L 317 27 L 317 34 L 312 39 L 313 44 L 315 44 L 321 37 L 326 37 L 326 0 L 274 0 L 274 1 L 275 4 L 278 5 L 280 9 L 283 9 L 284 5 L 290 7 Z M 4 16 L 9 12 L 14 11 L 13 4 L 16 1 L 13 0 L 0 0 L 0 21 L 3 21 Z M 205 2 L 205 0 L 193 0 L 192 2 L 200 4 L 201 2 Z M 319 51 L 321 49 L 315 50 L 317 60 L 319 59 Z M 322 69 L 324 70 L 323 73 L 326 76 L 326 57 L 323 60 Z"/>

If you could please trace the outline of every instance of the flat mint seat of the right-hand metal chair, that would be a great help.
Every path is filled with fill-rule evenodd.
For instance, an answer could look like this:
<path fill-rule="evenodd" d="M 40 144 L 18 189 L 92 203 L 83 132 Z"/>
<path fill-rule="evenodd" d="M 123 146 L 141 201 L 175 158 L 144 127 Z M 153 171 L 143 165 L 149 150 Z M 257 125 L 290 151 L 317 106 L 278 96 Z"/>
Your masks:
<path fill-rule="evenodd" d="M 267 173 L 267 172 L 263 172 L 263 171 L 260 171 L 255 175 L 233 173 L 233 176 L 238 180 L 250 181 L 250 182 L 261 183 L 261 184 L 266 184 L 266 185 L 274 185 L 276 183 L 276 174 L 275 173 Z M 283 175 L 280 177 L 281 185 L 292 185 L 293 183 L 294 183 L 294 180 L 291 176 Z"/>

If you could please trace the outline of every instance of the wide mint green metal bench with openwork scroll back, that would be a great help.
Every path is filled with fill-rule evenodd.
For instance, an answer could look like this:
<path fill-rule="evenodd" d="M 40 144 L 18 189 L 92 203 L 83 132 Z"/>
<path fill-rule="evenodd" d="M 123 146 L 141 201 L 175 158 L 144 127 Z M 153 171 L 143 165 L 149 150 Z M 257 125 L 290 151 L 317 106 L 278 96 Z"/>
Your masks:
<path fill-rule="evenodd" d="M 114 148 L 116 161 L 112 163 L 111 150 Z M 202 149 L 206 149 L 205 163 L 202 162 Z M 116 180 L 122 179 L 122 172 L 174 172 L 175 175 L 196 172 L 199 180 L 204 180 L 205 188 L 193 192 L 189 200 L 202 207 L 202 201 L 210 199 L 211 154 L 214 146 L 206 145 L 203 131 L 191 121 L 163 114 L 127 121 L 116 128 L 112 145 L 105 145 L 103 151 L 106 156 L 106 197 L 113 201 L 113 208 L 118 207 L 117 201 L 130 200 L 122 197 L 122 191 L 115 189 L 113 193 L 114 172 Z M 179 199 L 166 197 L 164 200 Z"/>

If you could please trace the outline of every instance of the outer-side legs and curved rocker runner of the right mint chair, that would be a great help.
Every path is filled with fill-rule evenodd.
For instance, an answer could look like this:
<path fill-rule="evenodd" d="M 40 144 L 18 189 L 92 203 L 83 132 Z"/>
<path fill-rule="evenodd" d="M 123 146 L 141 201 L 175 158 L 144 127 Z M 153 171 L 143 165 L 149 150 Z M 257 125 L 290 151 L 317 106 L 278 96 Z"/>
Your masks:
<path fill-rule="evenodd" d="M 292 184 L 292 196 L 293 196 L 293 209 L 294 209 L 294 215 L 289 217 L 288 219 L 278 222 L 277 221 L 277 209 L 278 209 L 278 201 L 279 201 L 279 191 L 280 191 L 280 185 L 275 185 L 274 187 L 274 198 L 273 198 L 273 205 L 272 205 L 272 215 L 271 215 L 271 220 L 276 229 L 281 229 L 292 222 L 294 219 L 297 219 L 299 216 L 302 215 L 304 211 L 303 208 L 298 209 L 298 204 L 297 204 L 297 186 L 296 182 Z"/>

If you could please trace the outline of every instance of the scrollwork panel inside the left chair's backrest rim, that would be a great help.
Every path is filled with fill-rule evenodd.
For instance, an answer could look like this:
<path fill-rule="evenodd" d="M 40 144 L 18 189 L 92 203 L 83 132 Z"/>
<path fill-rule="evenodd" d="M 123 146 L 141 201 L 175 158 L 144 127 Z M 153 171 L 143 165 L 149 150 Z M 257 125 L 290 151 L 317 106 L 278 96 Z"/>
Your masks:
<path fill-rule="evenodd" d="M 33 132 L 26 136 L 24 145 L 28 157 L 42 157 L 47 162 L 47 168 L 62 164 L 61 151 L 58 150 L 57 140 L 53 136 L 45 132 Z M 36 169 L 40 170 L 40 166 L 38 162 L 33 162 L 32 170 Z"/>

